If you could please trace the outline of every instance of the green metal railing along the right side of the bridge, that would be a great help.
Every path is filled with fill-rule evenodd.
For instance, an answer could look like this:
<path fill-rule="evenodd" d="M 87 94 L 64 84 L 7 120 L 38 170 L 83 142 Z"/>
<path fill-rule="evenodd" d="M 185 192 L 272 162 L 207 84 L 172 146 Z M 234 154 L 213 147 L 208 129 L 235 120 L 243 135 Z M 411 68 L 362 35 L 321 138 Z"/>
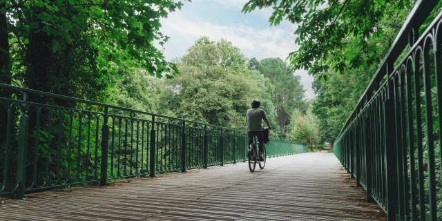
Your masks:
<path fill-rule="evenodd" d="M 416 2 L 334 142 L 388 220 L 442 220 L 442 13 L 421 27 L 438 2 Z"/>

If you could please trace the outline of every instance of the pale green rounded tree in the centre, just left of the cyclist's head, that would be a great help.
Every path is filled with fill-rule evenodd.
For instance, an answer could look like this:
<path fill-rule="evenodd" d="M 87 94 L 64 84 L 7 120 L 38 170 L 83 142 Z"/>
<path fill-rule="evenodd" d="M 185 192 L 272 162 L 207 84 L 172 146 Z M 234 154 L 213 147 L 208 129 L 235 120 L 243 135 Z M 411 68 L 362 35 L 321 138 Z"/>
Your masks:
<path fill-rule="evenodd" d="M 180 61 L 180 75 L 165 81 L 162 112 L 209 124 L 244 128 L 253 98 L 259 97 L 270 117 L 276 116 L 273 85 L 256 70 L 238 47 L 202 37 Z"/>

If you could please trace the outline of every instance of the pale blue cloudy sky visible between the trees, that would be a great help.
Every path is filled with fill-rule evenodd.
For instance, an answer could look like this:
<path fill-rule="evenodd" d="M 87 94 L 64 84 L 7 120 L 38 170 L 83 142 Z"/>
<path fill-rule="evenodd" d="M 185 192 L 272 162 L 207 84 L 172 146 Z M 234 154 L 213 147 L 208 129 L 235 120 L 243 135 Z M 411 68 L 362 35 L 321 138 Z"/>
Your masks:
<path fill-rule="evenodd" d="M 246 57 L 258 60 L 267 57 L 280 57 L 285 60 L 289 52 L 297 50 L 295 44 L 295 26 L 283 21 L 279 26 L 271 26 L 270 8 L 256 10 L 251 13 L 241 12 L 247 0 L 192 0 L 183 1 L 182 10 L 169 14 L 162 19 L 162 33 L 171 37 L 164 45 L 164 55 L 171 61 L 182 57 L 187 48 L 196 39 L 208 36 L 212 41 L 226 39 L 238 46 Z M 313 77 L 307 70 L 296 70 L 295 75 L 301 77 L 300 83 L 307 91 L 305 98 L 314 98 L 311 89 Z"/>

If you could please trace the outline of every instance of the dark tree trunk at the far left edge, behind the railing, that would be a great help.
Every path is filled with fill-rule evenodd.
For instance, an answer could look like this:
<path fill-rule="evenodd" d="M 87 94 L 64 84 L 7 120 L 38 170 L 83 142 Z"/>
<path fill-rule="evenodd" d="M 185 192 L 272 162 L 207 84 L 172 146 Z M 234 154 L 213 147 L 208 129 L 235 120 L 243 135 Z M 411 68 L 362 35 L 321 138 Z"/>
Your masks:
<path fill-rule="evenodd" d="M 6 8 L 6 1 L 0 0 L 0 9 Z M 8 37 L 8 17 L 6 12 L 0 12 L 0 83 L 11 84 L 10 57 L 9 57 L 9 37 Z M 1 98 L 10 98 L 11 91 L 0 88 Z M 6 142 L 6 130 L 8 126 L 8 105 L 0 100 L 0 146 Z"/>

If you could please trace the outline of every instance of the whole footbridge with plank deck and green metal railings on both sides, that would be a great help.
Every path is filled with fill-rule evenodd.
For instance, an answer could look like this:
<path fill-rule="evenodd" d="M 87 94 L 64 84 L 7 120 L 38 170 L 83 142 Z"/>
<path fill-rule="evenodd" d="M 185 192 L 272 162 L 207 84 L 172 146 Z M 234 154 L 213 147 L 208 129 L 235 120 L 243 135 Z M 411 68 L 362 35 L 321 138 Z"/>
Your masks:
<path fill-rule="evenodd" d="M 438 3 L 416 1 L 334 154 L 272 137 L 254 173 L 244 131 L 0 84 L 0 218 L 441 220 Z"/>

